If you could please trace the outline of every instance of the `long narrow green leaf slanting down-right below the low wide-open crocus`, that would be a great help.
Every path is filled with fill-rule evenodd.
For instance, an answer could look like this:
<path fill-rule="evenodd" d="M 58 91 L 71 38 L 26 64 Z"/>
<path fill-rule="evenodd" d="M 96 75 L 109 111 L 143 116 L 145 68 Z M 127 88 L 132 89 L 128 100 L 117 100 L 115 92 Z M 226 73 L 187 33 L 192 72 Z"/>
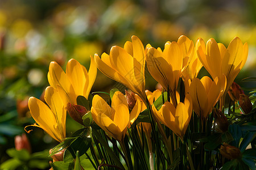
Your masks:
<path fill-rule="evenodd" d="M 112 158 L 113 162 L 115 163 L 115 165 L 117 165 L 119 168 L 121 169 L 125 169 L 125 167 L 123 167 L 122 163 L 119 161 L 119 159 L 117 158 L 117 155 L 115 155 L 115 153 L 112 151 L 112 149 L 109 147 L 108 143 L 106 143 L 106 141 L 104 141 L 104 139 L 101 137 L 101 135 L 98 133 L 97 130 L 92 129 L 92 133 L 96 136 L 96 138 L 98 139 L 98 141 L 101 143 L 101 145 L 105 148 L 106 152 L 109 154 L 110 158 Z"/>

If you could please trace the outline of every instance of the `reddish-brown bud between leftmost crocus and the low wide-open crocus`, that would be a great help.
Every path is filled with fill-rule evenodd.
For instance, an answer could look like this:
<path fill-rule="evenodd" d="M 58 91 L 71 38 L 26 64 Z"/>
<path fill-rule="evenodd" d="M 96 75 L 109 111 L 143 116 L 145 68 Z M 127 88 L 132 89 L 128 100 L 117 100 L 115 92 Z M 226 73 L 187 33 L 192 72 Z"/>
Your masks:
<path fill-rule="evenodd" d="M 81 125 L 84 125 L 82 122 L 82 116 L 88 112 L 85 107 L 68 103 L 66 109 L 68 110 L 68 114 L 73 118 L 73 120 L 79 122 Z"/>

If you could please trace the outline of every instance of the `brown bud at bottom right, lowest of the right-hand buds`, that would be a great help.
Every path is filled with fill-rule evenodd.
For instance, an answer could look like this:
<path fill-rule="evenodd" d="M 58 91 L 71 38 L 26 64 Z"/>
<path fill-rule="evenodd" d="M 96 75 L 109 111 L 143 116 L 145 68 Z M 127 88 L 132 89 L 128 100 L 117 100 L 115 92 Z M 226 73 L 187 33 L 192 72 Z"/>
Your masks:
<path fill-rule="evenodd" d="M 228 159 L 237 159 L 241 157 L 241 151 L 239 148 L 223 143 L 220 147 L 220 153 L 222 156 Z"/>

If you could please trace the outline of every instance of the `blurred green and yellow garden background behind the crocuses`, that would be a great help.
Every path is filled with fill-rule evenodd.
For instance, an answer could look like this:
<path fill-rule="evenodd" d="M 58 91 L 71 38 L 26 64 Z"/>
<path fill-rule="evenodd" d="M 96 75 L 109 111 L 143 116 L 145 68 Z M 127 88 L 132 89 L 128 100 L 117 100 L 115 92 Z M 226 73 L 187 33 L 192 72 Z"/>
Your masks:
<path fill-rule="evenodd" d="M 194 43 L 213 37 L 226 46 L 238 36 L 249 44 L 249 56 L 236 82 L 255 87 L 241 82 L 256 76 L 255 9 L 254 0 L 0 1 L 0 164 L 10 159 L 6 150 L 15 147 L 15 135 L 34 124 L 27 100 L 39 98 L 48 86 L 51 61 L 65 69 L 68 59 L 75 58 L 89 69 L 90 55 L 109 53 L 111 46 L 123 46 L 132 35 L 144 46 L 161 48 L 181 35 Z M 154 90 L 156 82 L 146 78 L 147 88 Z M 114 86 L 118 84 L 98 71 L 92 92 Z M 68 118 L 67 136 L 79 128 Z M 32 152 L 57 144 L 39 128 L 27 137 Z"/>

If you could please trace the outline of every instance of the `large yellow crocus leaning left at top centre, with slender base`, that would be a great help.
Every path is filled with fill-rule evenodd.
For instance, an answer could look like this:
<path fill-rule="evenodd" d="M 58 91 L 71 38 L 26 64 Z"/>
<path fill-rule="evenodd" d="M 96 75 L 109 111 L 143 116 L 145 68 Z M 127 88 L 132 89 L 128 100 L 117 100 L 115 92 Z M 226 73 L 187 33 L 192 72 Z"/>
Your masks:
<path fill-rule="evenodd" d="M 94 55 L 98 69 L 109 78 L 122 83 L 146 103 L 144 46 L 137 36 L 126 41 L 123 48 L 112 46 L 110 54 Z"/>

